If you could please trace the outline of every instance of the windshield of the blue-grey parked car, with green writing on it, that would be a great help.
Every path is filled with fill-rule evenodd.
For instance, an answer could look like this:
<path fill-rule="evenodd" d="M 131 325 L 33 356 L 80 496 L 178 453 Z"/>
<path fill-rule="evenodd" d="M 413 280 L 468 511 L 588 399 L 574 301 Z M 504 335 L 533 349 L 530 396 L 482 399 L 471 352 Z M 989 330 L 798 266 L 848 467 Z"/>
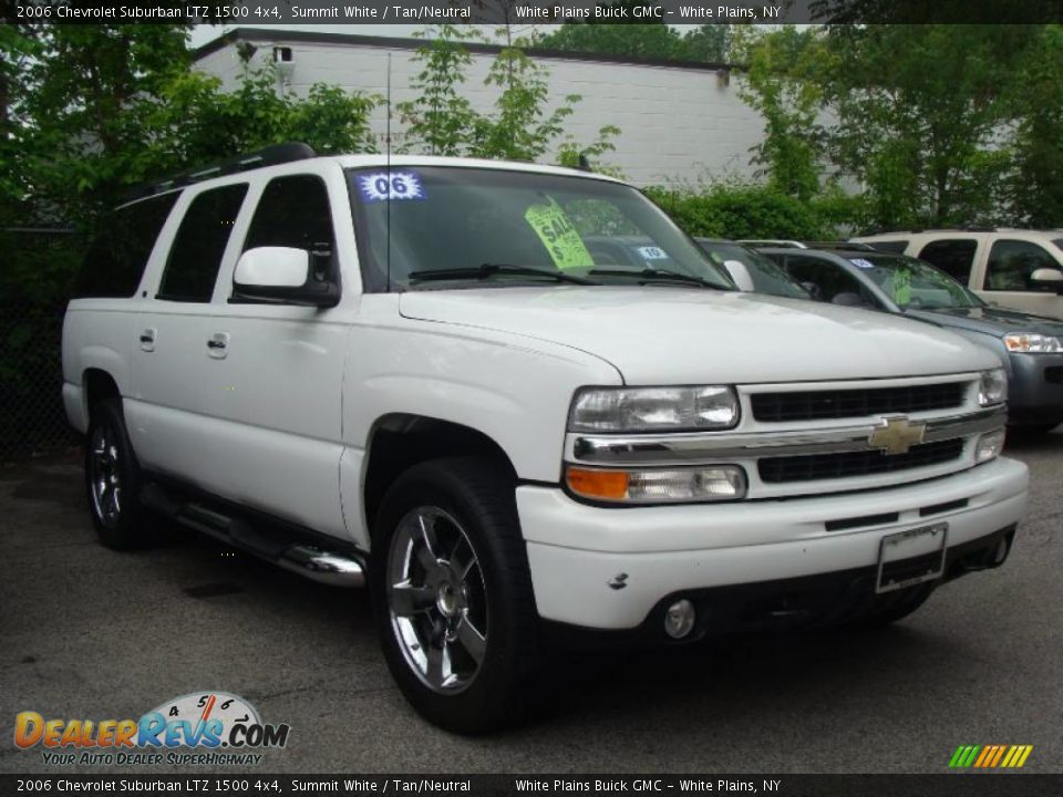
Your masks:
<path fill-rule="evenodd" d="M 849 262 L 867 275 L 901 309 L 984 307 L 974 293 L 930 263 L 909 257 L 861 252 Z"/>

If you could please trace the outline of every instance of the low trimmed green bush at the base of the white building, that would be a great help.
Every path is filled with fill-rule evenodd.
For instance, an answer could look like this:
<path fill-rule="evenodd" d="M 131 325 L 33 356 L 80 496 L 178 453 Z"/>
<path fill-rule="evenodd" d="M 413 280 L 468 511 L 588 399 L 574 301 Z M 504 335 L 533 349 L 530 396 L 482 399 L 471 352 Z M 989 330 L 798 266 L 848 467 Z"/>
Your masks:
<path fill-rule="evenodd" d="M 830 232 L 813 205 L 770 186 L 718 185 L 702 194 L 650 188 L 647 195 L 692 236 L 816 240 Z"/>

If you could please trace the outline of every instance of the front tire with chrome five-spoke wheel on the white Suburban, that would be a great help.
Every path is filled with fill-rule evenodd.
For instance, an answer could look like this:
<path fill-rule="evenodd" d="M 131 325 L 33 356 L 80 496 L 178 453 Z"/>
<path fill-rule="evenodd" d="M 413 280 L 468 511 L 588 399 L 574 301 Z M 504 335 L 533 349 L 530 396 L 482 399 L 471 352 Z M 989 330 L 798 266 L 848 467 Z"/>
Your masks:
<path fill-rule="evenodd" d="M 422 716 L 474 734 L 523 714 L 538 615 L 499 468 L 455 458 L 403 474 L 376 517 L 370 590 L 388 666 Z"/>

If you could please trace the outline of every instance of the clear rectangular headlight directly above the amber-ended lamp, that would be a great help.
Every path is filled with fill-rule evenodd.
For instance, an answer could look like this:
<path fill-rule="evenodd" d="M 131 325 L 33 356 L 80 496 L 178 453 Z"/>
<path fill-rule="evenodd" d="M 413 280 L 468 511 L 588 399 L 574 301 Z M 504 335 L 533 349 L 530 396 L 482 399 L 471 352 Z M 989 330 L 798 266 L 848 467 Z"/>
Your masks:
<path fill-rule="evenodd" d="M 585 387 L 576 394 L 571 432 L 699 432 L 731 428 L 739 400 L 725 385 Z"/>

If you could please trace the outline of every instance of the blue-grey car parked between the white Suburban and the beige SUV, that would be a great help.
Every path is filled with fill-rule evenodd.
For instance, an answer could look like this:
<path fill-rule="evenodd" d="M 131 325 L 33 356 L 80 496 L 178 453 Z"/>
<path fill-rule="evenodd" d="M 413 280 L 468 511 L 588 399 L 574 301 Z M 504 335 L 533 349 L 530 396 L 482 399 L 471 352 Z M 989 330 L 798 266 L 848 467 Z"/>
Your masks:
<path fill-rule="evenodd" d="M 762 250 L 817 296 L 927 321 L 990 349 L 1008 370 L 1009 423 L 1063 422 L 1063 322 L 987 304 L 930 263 L 865 250 Z"/>

